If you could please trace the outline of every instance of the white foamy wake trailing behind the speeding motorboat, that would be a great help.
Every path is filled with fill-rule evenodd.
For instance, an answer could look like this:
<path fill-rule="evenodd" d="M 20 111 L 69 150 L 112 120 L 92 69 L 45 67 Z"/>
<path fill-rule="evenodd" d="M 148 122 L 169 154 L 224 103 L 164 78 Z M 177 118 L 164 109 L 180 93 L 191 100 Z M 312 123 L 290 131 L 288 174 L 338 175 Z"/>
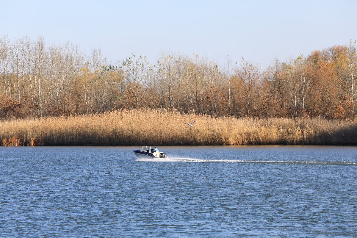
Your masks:
<path fill-rule="evenodd" d="M 267 164 L 301 164 L 301 165 L 357 165 L 353 161 L 268 161 L 268 160 L 237 160 L 237 159 L 195 159 L 195 158 L 137 158 L 143 162 L 203 162 L 203 163 L 267 163 Z"/>

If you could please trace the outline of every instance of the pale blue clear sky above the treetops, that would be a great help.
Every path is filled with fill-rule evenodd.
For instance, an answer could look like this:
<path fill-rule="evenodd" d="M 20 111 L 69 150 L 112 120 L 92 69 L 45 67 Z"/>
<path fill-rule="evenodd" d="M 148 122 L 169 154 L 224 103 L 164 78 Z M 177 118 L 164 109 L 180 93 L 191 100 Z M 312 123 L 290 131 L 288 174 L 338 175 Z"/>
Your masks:
<path fill-rule="evenodd" d="M 357 0 L 296 1 L 8 1 L 0 0 L 0 34 L 44 36 L 112 64 L 135 55 L 199 54 L 223 65 L 227 54 L 263 68 L 277 58 L 357 40 Z"/>

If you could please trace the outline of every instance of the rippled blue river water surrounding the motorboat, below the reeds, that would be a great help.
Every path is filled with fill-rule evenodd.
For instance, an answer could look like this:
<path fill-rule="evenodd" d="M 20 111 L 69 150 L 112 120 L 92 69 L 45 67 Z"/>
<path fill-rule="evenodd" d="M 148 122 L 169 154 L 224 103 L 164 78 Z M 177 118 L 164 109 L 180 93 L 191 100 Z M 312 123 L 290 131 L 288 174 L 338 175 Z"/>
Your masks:
<path fill-rule="evenodd" d="M 0 237 L 357 237 L 357 147 L 0 147 Z"/>

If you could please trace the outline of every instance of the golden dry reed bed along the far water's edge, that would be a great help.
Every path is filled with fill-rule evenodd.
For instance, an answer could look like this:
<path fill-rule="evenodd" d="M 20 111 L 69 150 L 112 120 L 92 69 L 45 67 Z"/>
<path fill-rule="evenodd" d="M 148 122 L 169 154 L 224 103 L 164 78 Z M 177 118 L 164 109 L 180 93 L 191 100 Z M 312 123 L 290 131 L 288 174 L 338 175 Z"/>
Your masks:
<path fill-rule="evenodd" d="M 182 122 L 197 121 L 192 127 Z M 155 109 L 0 121 L 2 146 L 357 145 L 353 121 L 236 118 Z"/>

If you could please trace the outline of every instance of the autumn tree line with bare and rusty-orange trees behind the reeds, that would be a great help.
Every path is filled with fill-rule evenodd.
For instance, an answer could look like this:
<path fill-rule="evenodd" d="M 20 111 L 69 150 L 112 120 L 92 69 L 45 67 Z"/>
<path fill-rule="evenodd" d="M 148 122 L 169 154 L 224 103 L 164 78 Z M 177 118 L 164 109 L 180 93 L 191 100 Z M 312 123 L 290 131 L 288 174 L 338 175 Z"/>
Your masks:
<path fill-rule="evenodd" d="M 101 48 L 0 38 L 0 118 L 159 108 L 216 116 L 355 117 L 356 42 L 315 50 L 266 69 L 199 55 L 132 55 L 109 64 Z"/>

